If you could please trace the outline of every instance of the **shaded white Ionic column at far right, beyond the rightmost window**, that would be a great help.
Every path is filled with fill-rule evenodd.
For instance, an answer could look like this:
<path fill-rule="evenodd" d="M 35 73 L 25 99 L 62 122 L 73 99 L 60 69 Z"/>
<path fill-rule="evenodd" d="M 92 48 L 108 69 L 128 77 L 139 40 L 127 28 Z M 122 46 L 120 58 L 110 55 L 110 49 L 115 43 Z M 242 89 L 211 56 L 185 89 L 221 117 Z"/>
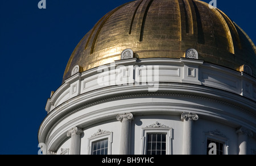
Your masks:
<path fill-rule="evenodd" d="M 238 146 L 239 146 L 239 155 L 246 155 L 247 152 L 247 139 L 248 136 L 253 136 L 253 132 L 248 130 L 245 127 L 240 127 L 237 130 L 238 134 Z"/>

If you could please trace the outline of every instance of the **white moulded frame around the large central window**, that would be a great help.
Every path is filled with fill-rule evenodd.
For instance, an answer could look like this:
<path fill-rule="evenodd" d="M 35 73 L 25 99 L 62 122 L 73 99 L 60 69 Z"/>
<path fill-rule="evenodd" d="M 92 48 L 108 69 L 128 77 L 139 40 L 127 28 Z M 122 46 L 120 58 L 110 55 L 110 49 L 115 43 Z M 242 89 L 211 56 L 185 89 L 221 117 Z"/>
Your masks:
<path fill-rule="evenodd" d="M 173 128 L 169 127 L 147 127 L 142 128 L 142 155 L 147 154 L 147 135 L 166 134 L 166 155 L 172 155 Z"/>

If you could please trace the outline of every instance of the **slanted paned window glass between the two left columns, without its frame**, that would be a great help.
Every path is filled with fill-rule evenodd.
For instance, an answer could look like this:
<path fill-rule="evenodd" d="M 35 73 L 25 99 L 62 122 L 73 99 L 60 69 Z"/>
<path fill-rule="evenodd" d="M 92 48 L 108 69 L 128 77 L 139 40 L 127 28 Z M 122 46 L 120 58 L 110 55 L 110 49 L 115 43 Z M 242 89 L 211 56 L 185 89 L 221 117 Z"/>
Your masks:
<path fill-rule="evenodd" d="M 108 155 L 108 139 L 93 142 L 92 155 Z"/>

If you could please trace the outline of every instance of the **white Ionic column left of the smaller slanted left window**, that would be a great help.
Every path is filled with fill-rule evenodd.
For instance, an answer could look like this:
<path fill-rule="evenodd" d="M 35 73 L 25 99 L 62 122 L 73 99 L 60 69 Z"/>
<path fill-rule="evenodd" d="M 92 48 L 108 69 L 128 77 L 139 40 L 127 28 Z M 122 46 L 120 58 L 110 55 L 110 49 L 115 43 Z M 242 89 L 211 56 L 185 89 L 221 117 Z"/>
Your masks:
<path fill-rule="evenodd" d="M 73 127 L 67 132 L 67 136 L 71 136 L 70 155 L 80 155 L 82 132 L 83 131 L 77 127 Z"/>

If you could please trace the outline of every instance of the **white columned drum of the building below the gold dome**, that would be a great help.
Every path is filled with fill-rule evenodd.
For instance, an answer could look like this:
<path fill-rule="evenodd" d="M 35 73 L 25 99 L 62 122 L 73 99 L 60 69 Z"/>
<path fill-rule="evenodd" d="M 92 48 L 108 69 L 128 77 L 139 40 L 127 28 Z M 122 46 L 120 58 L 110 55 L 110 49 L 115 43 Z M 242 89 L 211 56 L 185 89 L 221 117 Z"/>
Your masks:
<path fill-rule="evenodd" d="M 135 54 L 128 47 L 112 63 L 70 69 L 47 101 L 44 154 L 256 153 L 255 67 L 214 64 L 196 48 L 180 58 Z"/>

